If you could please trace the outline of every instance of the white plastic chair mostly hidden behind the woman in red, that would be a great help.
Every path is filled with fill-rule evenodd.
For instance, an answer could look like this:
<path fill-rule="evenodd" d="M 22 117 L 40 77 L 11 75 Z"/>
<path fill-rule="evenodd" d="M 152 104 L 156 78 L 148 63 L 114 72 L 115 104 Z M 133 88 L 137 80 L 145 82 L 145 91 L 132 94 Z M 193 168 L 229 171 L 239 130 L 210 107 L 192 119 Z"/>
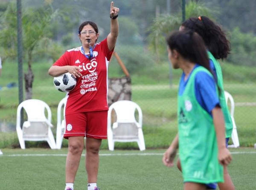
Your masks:
<path fill-rule="evenodd" d="M 56 130 L 56 147 L 61 149 L 62 140 L 65 132 L 65 108 L 66 108 L 67 97 L 61 99 L 58 103 L 57 108 L 57 130 Z M 62 111 L 63 110 L 63 111 Z"/>

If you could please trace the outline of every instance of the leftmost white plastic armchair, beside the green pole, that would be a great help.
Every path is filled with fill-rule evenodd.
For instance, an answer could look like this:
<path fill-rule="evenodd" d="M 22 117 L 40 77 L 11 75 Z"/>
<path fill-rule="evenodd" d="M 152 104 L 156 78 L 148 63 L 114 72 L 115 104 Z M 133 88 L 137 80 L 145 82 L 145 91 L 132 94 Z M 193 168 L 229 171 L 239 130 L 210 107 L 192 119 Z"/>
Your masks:
<path fill-rule="evenodd" d="M 27 121 L 20 127 L 20 111 L 24 109 Z M 47 111 L 47 118 L 45 116 Z M 39 99 L 27 99 L 20 103 L 17 108 L 16 130 L 20 147 L 25 149 L 25 141 L 47 141 L 51 149 L 56 148 L 55 139 L 52 134 L 52 112 L 47 105 Z"/>

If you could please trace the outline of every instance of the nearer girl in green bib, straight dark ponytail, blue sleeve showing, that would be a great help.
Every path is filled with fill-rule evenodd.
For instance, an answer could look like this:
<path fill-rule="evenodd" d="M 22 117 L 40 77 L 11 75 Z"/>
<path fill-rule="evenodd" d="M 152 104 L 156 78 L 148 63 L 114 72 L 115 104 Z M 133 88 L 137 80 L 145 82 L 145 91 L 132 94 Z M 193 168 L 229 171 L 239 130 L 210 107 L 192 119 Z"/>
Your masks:
<path fill-rule="evenodd" d="M 223 182 L 223 167 L 232 157 L 225 143 L 225 123 L 218 86 L 209 67 L 202 38 L 193 31 L 177 31 L 167 38 L 168 57 L 180 68 L 178 134 L 163 156 L 170 167 L 179 147 L 184 190 L 206 190 Z"/>

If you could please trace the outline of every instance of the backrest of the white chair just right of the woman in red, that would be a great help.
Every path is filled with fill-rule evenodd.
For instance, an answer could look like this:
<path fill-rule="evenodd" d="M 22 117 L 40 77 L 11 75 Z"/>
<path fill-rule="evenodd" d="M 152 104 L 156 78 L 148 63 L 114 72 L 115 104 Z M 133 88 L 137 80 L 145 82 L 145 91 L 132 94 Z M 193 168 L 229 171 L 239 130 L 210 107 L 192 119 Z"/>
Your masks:
<path fill-rule="evenodd" d="M 138 122 L 140 127 L 142 127 L 142 111 L 139 105 L 135 102 L 129 100 L 120 100 L 114 102 L 109 107 L 109 113 L 114 110 L 116 112 L 116 122 L 117 123 L 131 123 Z M 135 118 L 135 111 L 138 111 L 138 121 Z M 108 114 L 108 120 L 111 120 L 111 114 Z"/>

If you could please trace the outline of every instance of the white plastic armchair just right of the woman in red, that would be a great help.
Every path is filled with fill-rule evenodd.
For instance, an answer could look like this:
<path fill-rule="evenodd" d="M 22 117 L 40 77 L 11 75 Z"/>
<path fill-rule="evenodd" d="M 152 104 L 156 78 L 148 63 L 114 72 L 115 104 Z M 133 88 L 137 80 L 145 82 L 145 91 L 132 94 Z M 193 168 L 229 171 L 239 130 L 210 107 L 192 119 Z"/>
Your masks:
<path fill-rule="evenodd" d="M 112 111 L 116 121 L 112 121 Z M 135 119 L 138 111 L 138 121 Z M 142 131 L 142 111 L 139 105 L 129 100 L 114 102 L 108 110 L 108 148 L 114 150 L 115 142 L 137 142 L 140 150 L 145 150 Z M 111 125 L 113 123 L 113 125 Z"/>

